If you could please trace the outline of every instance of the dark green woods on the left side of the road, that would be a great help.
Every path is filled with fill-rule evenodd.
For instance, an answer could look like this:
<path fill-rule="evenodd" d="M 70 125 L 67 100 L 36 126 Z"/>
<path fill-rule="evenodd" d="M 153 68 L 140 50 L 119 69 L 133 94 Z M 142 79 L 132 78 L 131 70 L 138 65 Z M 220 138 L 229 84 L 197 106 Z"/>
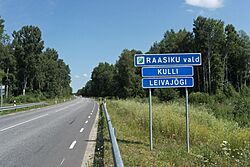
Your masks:
<path fill-rule="evenodd" d="M 5 96 L 65 97 L 72 93 L 70 68 L 54 48 L 44 48 L 42 32 L 23 26 L 12 37 L 0 17 L 0 82 Z"/>

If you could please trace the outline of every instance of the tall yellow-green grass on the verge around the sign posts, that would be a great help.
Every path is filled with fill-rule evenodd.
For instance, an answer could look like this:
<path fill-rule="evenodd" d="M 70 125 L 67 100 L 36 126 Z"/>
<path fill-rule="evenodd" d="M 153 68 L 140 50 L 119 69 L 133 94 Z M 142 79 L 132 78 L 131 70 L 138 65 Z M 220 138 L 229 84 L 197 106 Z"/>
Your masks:
<path fill-rule="evenodd" d="M 125 166 L 250 165 L 250 129 L 217 119 L 204 106 L 190 106 L 190 154 L 185 151 L 185 104 L 181 101 L 153 103 L 153 151 L 149 150 L 147 103 L 110 100 L 107 108 Z M 104 134 L 108 140 L 108 133 Z M 107 140 L 106 165 L 113 163 Z"/>

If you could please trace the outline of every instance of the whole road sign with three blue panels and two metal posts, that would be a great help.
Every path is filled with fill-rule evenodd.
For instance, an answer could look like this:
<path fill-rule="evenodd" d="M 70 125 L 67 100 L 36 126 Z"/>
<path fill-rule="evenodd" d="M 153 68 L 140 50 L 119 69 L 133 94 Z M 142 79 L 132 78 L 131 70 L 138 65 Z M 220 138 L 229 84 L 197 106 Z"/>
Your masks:
<path fill-rule="evenodd" d="M 177 57 L 178 56 L 178 57 Z M 196 57 L 195 57 L 196 56 Z M 153 58 L 152 58 L 153 57 Z M 151 88 L 182 88 L 184 87 L 186 90 L 186 149 L 187 152 L 189 153 L 189 116 L 188 116 L 188 87 L 193 87 L 194 86 L 194 78 L 192 77 L 194 75 L 194 71 L 193 71 L 193 66 L 198 66 L 201 65 L 202 63 L 202 57 L 201 57 L 201 53 L 171 53 L 171 54 L 136 54 L 134 56 L 134 66 L 135 67 L 143 67 L 142 68 L 142 77 L 146 77 L 146 78 L 142 78 L 142 87 L 143 89 L 149 89 L 149 120 L 150 120 L 150 125 L 149 125 L 149 129 L 150 129 L 150 150 L 153 149 L 153 133 L 152 133 L 152 95 L 151 95 Z M 163 68 L 182 68 L 182 67 L 188 67 L 191 66 L 192 68 L 192 75 L 185 75 L 186 73 L 182 73 L 179 74 L 174 74 L 173 75 L 173 71 L 172 74 L 168 74 L 168 75 L 162 75 L 159 76 L 159 71 L 158 74 L 156 75 L 155 73 L 149 75 L 144 75 L 144 70 L 149 70 L 150 69 L 154 69 L 157 70 L 159 68 L 163 69 Z M 151 67 L 151 68 L 148 68 Z M 153 68 L 154 67 L 154 68 Z M 158 67 L 158 68 L 157 68 Z M 190 68 L 190 67 L 188 67 Z M 169 72 L 168 72 L 169 73 Z M 179 77 L 181 76 L 181 77 Z M 190 76 L 190 77 L 189 77 Z M 151 77 L 151 78 L 147 78 L 147 77 Z M 183 80 L 189 80 L 186 81 L 186 83 L 188 84 L 184 84 L 184 85 L 178 85 L 175 84 L 173 85 L 173 80 L 178 81 L 183 79 Z M 159 82 L 156 84 L 154 83 L 154 85 L 157 84 L 162 84 L 160 86 L 145 86 L 144 81 L 154 81 L 154 80 L 172 80 L 172 85 L 167 85 L 163 84 L 163 82 Z M 191 80 L 191 84 L 189 83 Z M 169 83 L 168 83 L 169 84 Z"/>

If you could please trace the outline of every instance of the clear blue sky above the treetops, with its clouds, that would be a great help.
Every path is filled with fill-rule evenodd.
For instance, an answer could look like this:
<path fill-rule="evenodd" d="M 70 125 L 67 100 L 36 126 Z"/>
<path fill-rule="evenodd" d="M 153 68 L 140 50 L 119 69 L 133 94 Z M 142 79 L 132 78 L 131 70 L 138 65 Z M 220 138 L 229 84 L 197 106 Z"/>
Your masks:
<path fill-rule="evenodd" d="M 71 69 L 73 92 L 100 62 L 124 49 L 147 52 L 170 29 L 192 31 L 198 16 L 221 19 L 250 35 L 249 0 L 0 0 L 5 32 L 38 26 L 45 48 Z"/>

